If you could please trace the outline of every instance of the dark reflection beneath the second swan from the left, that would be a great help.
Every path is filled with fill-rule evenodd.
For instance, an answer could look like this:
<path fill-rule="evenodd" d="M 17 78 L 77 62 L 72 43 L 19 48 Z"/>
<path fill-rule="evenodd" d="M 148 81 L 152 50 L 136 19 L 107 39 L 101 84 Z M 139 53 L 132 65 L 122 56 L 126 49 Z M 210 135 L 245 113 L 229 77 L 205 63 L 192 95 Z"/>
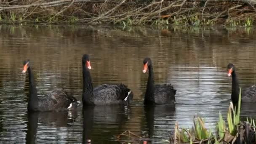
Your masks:
<path fill-rule="evenodd" d="M 83 144 L 91 143 L 107 143 L 106 139 L 123 131 L 123 126 L 131 117 L 131 109 L 124 105 L 103 105 L 103 106 L 84 106 L 83 107 Z M 111 125 L 112 126 L 109 126 Z M 107 132 L 106 135 L 102 131 Z M 94 139 L 93 136 L 96 136 Z"/>

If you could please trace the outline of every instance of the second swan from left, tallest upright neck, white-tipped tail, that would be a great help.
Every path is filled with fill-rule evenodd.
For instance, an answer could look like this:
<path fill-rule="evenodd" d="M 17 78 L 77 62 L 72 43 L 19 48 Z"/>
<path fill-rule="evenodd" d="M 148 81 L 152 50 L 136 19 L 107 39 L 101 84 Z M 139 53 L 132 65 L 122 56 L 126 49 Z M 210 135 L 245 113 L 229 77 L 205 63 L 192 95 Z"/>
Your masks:
<path fill-rule="evenodd" d="M 83 104 L 84 105 L 107 105 L 107 104 L 129 104 L 133 99 L 133 92 L 126 85 L 99 85 L 93 89 L 91 80 L 90 58 L 84 54 L 83 65 Z"/>

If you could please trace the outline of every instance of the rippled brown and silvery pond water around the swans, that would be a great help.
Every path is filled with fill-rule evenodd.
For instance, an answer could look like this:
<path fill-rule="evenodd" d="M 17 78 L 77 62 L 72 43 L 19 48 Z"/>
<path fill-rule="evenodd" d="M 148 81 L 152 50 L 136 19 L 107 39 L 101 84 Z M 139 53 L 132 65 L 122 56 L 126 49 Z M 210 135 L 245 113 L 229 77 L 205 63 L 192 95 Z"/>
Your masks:
<path fill-rule="evenodd" d="M 253 28 L 172 28 L 111 26 L 0 26 L 1 143 L 117 144 L 129 130 L 153 143 L 168 139 L 176 121 L 191 127 L 205 117 L 214 130 L 219 112 L 226 118 L 231 98 L 227 64 L 234 63 L 242 87 L 256 83 L 256 30 Z M 30 59 L 41 95 L 63 89 L 82 100 L 81 58 L 91 56 L 93 85 L 124 83 L 134 93 L 130 107 L 100 106 L 72 112 L 27 112 Z M 172 83 L 175 107 L 144 107 L 148 74 L 142 61 L 153 61 L 155 83 Z M 242 118 L 256 118 L 253 104 L 242 105 Z"/>

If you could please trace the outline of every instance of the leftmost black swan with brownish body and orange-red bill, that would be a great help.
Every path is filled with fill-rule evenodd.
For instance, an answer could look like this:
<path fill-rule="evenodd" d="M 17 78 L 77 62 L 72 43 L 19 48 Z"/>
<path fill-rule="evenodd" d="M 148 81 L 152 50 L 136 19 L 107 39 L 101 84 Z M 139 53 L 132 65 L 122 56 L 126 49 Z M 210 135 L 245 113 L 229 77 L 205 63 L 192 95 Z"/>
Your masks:
<path fill-rule="evenodd" d="M 22 73 L 27 71 L 29 73 L 28 111 L 43 112 L 72 110 L 80 104 L 80 101 L 77 101 L 75 97 L 69 96 L 66 92 L 59 90 L 53 91 L 46 96 L 38 97 L 29 60 L 24 61 Z"/>

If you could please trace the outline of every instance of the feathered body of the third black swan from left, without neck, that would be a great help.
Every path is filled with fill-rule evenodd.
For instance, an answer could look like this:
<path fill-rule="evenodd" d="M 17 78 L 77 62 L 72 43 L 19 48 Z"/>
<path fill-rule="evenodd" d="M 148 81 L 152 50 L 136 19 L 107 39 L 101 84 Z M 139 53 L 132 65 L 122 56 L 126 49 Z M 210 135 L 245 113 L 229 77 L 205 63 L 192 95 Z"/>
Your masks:
<path fill-rule="evenodd" d="M 172 104 L 175 101 L 176 90 L 171 84 L 155 85 L 155 103 Z"/>

